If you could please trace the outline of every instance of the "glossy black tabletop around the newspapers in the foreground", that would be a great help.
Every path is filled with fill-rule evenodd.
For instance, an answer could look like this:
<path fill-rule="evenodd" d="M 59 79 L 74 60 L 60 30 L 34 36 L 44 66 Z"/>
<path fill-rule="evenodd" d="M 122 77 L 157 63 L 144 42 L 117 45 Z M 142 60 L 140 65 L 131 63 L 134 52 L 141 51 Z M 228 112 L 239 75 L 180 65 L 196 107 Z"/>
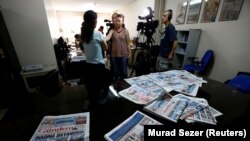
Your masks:
<path fill-rule="evenodd" d="M 199 89 L 197 97 L 206 98 L 210 106 L 214 107 L 215 109 L 219 110 L 224 114 L 216 118 L 218 123 L 216 126 L 212 126 L 211 128 L 224 126 L 248 127 L 250 118 L 247 114 L 249 114 L 250 110 L 250 95 L 238 93 L 237 91 L 234 91 L 227 85 L 218 81 L 211 79 L 206 80 L 208 81 L 208 83 L 203 84 L 203 86 Z M 124 81 L 120 81 L 119 85 L 117 86 L 119 87 L 116 88 L 121 90 L 129 87 L 129 84 Z M 33 97 L 37 99 L 34 102 L 36 104 L 36 106 L 34 107 L 40 107 L 37 108 L 37 112 L 39 113 L 39 115 L 42 115 L 38 120 L 32 120 L 28 121 L 27 124 L 22 124 L 34 125 L 29 125 L 27 128 L 24 128 L 24 130 L 29 129 L 28 131 L 31 131 L 28 137 L 30 138 L 32 136 L 32 134 L 38 127 L 41 119 L 45 115 L 62 115 L 83 112 L 81 111 L 81 105 L 84 103 L 86 97 L 85 94 L 86 90 L 84 88 L 84 85 L 79 85 L 75 87 L 65 87 L 56 97 L 44 97 L 43 95 L 35 93 Z M 207 128 L 210 126 L 208 124 L 202 123 L 188 124 L 185 121 L 181 120 L 178 121 L 178 123 L 173 123 L 171 121 L 164 120 L 158 116 L 143 111 L 143 106 L 141 105 L 134 104 L 128 101 L 127 99 L 124 99 L 122 97 L 116 97 L 110 93 L 107 103 L 94 107 L 94 109 L 91 109 L 89 111 L 90 140 L 104 141 L 104 134 L 106 134 L 107 132 L 115 128 L 117 125 L 122 123 L 136 110 L 147 114 L 148 116 L 160 121 L 166 126 L 172 126 L 176 128 L 191 127 L 193 130 L 197 129 L 195 128 L 197 127 L 195 125 L 199 125 L 201 128 Z M 229 129 L 232 128 L 229 127 Z M 249 132 L 250 131 L 248 131 L 248 136 Z"/>

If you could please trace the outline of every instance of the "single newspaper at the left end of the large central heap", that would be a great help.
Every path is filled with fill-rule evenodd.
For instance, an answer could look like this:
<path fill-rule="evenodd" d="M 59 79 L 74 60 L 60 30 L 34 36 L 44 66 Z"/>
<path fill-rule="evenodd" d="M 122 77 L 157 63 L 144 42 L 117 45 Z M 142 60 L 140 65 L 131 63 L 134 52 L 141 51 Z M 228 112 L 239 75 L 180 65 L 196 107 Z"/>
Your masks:
<path fill-rule="evenodd" d="M 141 105 L 148 104 L 160 96 L 159 94 L 147 91 L 136 84 L 120 91 L 118 94 L 136 104 Z"/>

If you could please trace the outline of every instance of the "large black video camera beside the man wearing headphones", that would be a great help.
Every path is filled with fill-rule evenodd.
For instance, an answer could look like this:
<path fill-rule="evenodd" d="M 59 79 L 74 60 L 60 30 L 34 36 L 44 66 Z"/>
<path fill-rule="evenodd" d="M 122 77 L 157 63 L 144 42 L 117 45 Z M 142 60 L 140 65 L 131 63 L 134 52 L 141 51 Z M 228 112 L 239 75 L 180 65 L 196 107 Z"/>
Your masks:
<path fill-rule="evenodd" d="M 151 9 L 151 7 L 147 7 L 149 14 L 142 17 L 139 16 L 138 18 L 140 20 L 145 20 L 146 22 L 138 22 L 137 25 L 137 31 L 141 31 L 142 34 L 144 34 L 147 37 L 147 43 L 151 43 L 152 35 L 155 32 L 155 29 L 158 27 L 159 21 L 153 20 L 153 13 L 154 11 Z"/>

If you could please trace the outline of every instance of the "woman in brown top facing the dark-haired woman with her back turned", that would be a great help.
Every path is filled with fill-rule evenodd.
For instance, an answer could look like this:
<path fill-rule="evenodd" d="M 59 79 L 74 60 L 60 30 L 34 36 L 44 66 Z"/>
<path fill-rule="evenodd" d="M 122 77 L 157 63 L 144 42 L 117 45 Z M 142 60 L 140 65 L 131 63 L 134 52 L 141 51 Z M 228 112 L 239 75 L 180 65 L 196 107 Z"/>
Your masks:
<path fill-rule="evenodd" d="M 123 27 L 124 16 L 117 14 L 116 18 L 112 16 L 114 22 L 114 29 L 111 29 L 105 37 L 106 41 L 112 39 L 110 61 L 111 70 L 114 73 L 114 80 L 124 79 L 128 77 L 127 73 L 127 60 L 130 56 L 129 47 L 129 32 Z"/>

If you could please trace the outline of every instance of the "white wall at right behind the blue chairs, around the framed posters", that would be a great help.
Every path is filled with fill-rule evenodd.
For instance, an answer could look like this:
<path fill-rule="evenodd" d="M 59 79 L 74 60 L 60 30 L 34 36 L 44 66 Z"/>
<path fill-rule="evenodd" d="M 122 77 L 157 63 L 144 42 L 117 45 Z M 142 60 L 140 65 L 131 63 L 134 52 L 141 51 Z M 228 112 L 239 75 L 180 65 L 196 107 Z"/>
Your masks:
<path fill-rule="evenodd" d="M 172 21 L 176 17 L 177 4 L 182 1 L 184 0 L 166 1 L 165 9 L 173 10 Z M 250 72 L 250 46 L 248 43 L 250 37 L 250 1 L 244 1 L 238 20 L 218 21 L 223 2 L 224 0 L 221 0 L 215 22 L 200 23 L 201 18 L 199 18 L 197 24 L 175 25 L 177 30 L 190 28 L 202 30 L 197 56 L 202 57 L 208 49 L 214 50 L 215 60 L 209 78 L 220 82 L 234 77 L 238 71 Z"/>

